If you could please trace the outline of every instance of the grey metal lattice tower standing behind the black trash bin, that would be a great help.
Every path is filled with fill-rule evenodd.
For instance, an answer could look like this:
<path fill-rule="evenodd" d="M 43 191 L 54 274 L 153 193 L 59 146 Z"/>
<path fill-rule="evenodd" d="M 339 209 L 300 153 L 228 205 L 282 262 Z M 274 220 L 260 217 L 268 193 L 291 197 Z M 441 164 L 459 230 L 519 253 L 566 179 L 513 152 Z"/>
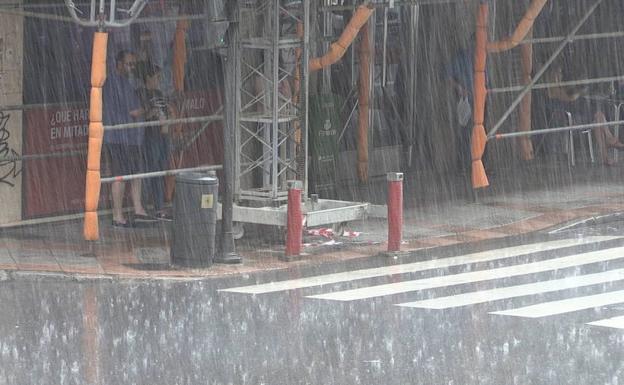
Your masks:
<path fill-rule="evenodd" d="M 235 195 L 284 201 L 287 180 L 307 192 L 310 1 L 240 2 L 239 18 Z"/>

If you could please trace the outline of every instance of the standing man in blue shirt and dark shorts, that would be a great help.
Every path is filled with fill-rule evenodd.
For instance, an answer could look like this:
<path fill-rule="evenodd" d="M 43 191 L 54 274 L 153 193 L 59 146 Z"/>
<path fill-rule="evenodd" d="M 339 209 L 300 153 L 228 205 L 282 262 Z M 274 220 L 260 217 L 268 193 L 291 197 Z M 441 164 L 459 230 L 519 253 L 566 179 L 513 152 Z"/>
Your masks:
<path fill-rule="evenodd" d="M 103 119 L 105 126 L 133 123 L 142 120 L 143 109 L 136 90 L 130 82 L 130 75 L 136 65 L 134 54 L 120 51 L 115 57 L 115 70 L 106 79 L 103 87 Z M 137 174 L 143 170 L 143 128 L 106 130 L 104 144 L 111 161 L 111 172 L 115 176 Z M 130 181 L 135 219 L 151 220 L 141 203 L 141 180 Z M 125 182 L 113 182 L 113 226 L 130 227 L 132 224 L 123 214 Z"/>

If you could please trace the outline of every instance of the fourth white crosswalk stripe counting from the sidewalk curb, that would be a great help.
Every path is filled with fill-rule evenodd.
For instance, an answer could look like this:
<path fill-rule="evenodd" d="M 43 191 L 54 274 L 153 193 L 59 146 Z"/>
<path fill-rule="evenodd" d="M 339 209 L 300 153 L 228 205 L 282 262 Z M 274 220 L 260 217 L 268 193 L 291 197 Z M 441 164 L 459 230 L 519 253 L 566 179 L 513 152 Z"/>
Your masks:
<path fill-rule="evenodd" d="M 571 313 L 574 311 L 593 309 L 601 306 L 624 302 L 624 290 L 564 299 L 561 301 L 544 302 L 537 305 L 524 306 L 511 310 L 491 312 L 490 314 L 510 315 L 514 317 L 540 318 L 551 315 Z"/>

